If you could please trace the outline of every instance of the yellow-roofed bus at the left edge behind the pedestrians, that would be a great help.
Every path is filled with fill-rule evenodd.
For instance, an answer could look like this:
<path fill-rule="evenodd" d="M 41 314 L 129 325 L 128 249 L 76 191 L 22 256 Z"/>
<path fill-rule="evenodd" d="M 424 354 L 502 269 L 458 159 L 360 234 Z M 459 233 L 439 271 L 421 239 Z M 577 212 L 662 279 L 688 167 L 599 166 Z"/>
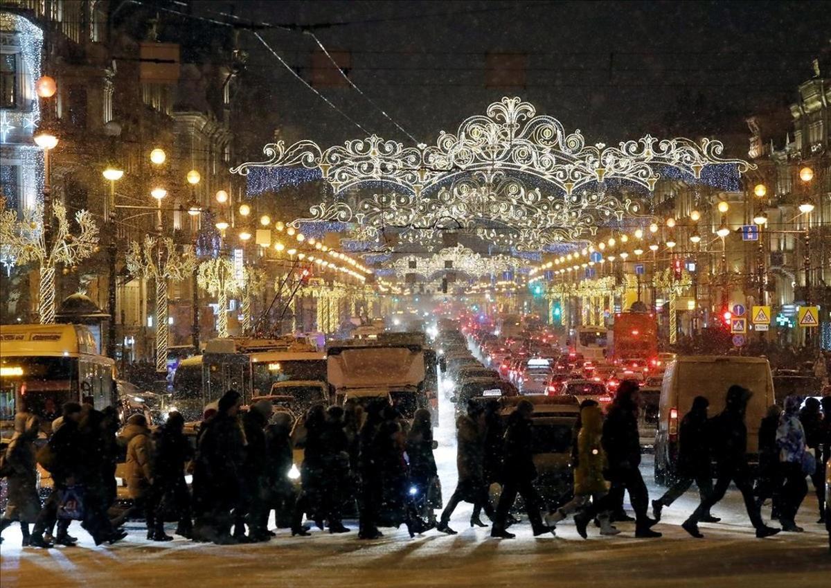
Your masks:
<path fill-rule="evenodd" d="M 114 377 L 86 326 L 0 325 L 0 426 L 12 425 L 21 399 L 45 421 L 65 402 L 116 404 Z"/>

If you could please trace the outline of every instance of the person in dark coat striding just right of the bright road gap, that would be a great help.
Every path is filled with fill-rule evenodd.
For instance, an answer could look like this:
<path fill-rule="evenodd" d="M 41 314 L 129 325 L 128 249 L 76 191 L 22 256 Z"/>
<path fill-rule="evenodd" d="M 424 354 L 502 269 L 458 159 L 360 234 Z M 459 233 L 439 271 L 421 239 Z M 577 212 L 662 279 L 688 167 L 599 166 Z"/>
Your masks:
<path fill-rule="evenodd" d="M 490 505 L 488 487 L 484 482 L 484 412 L 479 404 L 469 402 L 467 414 L 460 415 L 456 420 L 456 439 L 456 469 L 459 472 L 459 481 L 447 501 L 444 512 L 441 513 L 439 524 L 435 527 L 448 535 L 456 534 L 449 523 L 459 502 L 473 502 L 470 527 L 483 526 L 484 523 L 479 519 L 479 512 L 483 508 L 491 521 L 496 517 L 494 508 Z M 499 477 L 501 478 L 501 473 Z"/>

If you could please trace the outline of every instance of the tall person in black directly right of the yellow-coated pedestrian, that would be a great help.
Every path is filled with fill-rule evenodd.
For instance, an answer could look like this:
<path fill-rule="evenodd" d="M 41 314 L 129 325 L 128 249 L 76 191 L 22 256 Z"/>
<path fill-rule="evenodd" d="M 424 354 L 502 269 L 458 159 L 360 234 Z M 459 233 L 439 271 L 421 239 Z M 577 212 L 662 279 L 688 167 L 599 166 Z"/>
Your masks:
<path fill-rule="evenodd" d="M 622 382 L 603 424 L 603 449 L 606 450 L 609 463 L 607 479 L 612 483 L 609 500 L 615 509 L 620 508 L 624 490 L 629 492 L 635 510 L 635 537 L 661 537 L 661 533 L 652 530 L 657 521 L 647 517 L 649 491 L 639 468 L 641 438 L 637 432 L 638 390 L 637 382 Z"/>

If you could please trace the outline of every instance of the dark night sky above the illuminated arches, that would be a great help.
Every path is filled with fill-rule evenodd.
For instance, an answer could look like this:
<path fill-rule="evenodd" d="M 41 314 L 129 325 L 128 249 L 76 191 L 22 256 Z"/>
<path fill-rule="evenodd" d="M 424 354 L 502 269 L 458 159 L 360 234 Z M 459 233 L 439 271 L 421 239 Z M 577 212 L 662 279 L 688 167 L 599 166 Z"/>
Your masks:
<path fill-rule="evenodd" d="M 352 81 L 426 143 L 505 95 L 533 102 L 589 142 L 661 136 L 667 125 L 729 141 L 745 133 L 746 115 L 794 100 L 811 59 L 831 47 L 829 2 L 256 1 L 195 2 L 195 12 L 232 5 L 238 16 L 266 22 L 349 23 L 317 35 L 330 51 L 350 51 Z M 311 37 L 262 34 L 310 75 Z M 362 135 L 249 32 L 240 42 L 251 52 L 247 97 L 263 113 L 248 145 L 275 126 L 286 140 L 322 144 Z M 524 87 L 485 85 L 489 51 L 528 54 Z M 321 91 L 367 130 L 411 142 L 352 88 Z"/>

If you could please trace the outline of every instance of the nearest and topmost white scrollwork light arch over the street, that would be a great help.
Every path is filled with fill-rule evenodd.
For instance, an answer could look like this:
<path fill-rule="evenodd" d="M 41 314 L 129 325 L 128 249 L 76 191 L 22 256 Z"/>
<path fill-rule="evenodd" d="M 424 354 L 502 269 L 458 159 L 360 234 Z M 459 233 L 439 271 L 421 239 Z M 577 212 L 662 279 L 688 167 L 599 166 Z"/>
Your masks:
<path fill-rule="evenodd" d="M 580 130 L 567 134 L 553 116 L 538 115 L 529 102 L 505 96 L 489 105 L 485 115 L 464 120 L 455 134 L 442 131 L 435 145 L 405 146 L 376 135 L 327 149 L 310 140 L 289 146 L 278 141 L 263 148 L 267 159 L 240 164 L 231 172 L 247 175 L 258 167 L 302 166 L 320 169 L 335 194 L 374 181 L 416 195 L 455 176 L 504 172 L 534 176 L 550 191 L 570 195 L 607 179 L 652 190 L 661 179 L 661 169 L 676 169 L 699 180 L 702 169 L 710 165 L 727 164 L 736 174 L 755 168 L 743 159 L 722 159 L 723 150 L 717 140 L 696 143 L 652 135 L 622 141 L 617 147 L 587 145 Z"/>

